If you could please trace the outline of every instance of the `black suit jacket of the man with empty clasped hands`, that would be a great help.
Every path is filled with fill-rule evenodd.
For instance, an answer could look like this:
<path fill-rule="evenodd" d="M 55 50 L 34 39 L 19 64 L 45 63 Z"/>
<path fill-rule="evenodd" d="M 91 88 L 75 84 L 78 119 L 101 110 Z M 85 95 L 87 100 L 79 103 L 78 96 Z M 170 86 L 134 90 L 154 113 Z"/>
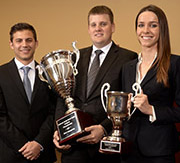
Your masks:
<path fill-rule="evenodd" d="M 35 163 L 55 161 L 52 143 L 55 102 L 37 72 L 30 104 L 14 60 L 0 67 L 0 162 L 28 162 L 18 150 L 32 140 L 44 148 Z"/>

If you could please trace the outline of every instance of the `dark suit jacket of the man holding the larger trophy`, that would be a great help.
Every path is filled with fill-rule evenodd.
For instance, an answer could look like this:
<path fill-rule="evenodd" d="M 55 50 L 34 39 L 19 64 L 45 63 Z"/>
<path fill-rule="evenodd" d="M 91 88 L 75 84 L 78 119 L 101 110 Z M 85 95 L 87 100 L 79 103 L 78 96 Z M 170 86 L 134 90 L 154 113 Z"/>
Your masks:
<path fill-rule="evenodd" d="M 80 59 L 78 62 L 78 75 L 76 76 L 76 87 L 74 90 L 75 106 L 80 110 L 92 115 L 95 124 L 101 124 L 107 133 L 112 130 L 112 123 L 107 118 L 104 111 L 100 93 L 104 83 L 111 85 L 111 90 L 121 90 L 121 68 L 122 65 L 137 57 L 137 54 L 118 47 L 114 42 L 101 65 L 94 85 L 90 91 L 89 97 L 86 97 L 87 74 L 92 47 L 80 50 Z M 56 119 L 64 115 L 65 108 L 58 102 L 56 108 Z M 99 146 L 98 146 L 99 148 Z"/>

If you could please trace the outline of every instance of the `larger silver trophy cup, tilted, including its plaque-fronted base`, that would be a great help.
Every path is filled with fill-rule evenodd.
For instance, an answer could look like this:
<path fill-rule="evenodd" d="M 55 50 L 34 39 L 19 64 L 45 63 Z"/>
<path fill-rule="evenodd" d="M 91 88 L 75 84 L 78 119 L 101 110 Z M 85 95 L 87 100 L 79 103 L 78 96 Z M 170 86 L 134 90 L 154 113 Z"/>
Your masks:
<path fill-rule="evenodd" d="M 65 116 L 56 120 L 60 137 L 59 144 L 71 143 L 77 137 L 84 135 L 84 128 L 92 123 L 91 117 L 87 113 L 75 108 L 74 100 L 71 97 L 75 85 L 75 75 L 78 73 L 76 66 L 80 56 L 75 42 L 72 43 L 72 46 L 73 52 L 57 50 L 48 53 L 37 66 L 40 79 L 47 82 L 51 88 L 65 99 L 65 104 L 68 108 Z M 74 64 L 72 60 L 73 54 L 76 55 L 76 62 Z"/>

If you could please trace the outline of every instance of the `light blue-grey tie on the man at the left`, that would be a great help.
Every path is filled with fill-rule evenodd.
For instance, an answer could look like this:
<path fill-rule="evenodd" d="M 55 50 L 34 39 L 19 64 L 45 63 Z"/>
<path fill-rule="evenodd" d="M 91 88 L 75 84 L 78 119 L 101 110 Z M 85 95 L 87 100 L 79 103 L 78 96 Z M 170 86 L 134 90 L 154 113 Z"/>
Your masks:
<path fill-rule="evenodd" d="M 31 103 L 31 94 L 32 94 L 31 83 L 28 77 L 28 73 L 30 69 L 31 69 L 30 67 L 22 67 L 22 70 L 24 71 L 23 84 L 24 84 L 24 88 L 25 88 L 29 103 Z"/>

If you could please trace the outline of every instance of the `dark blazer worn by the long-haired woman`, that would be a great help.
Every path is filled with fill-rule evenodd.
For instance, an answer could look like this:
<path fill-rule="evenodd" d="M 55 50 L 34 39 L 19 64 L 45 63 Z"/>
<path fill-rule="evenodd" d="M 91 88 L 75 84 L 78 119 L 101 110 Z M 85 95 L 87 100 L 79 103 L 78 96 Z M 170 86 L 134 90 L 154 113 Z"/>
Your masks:
<path fill-rule="evenodd" d="M 123 67 L 123 91 L 131 92 L 136 80 L 136 64 L 133 60 Z M 162 156 L 173 154 L 179 146 L 175 122 L 180 121 L 180 57 L 172 55 L 169 69 L 169 87 L 156 81 L 156 68 L 151 68 L 141 88 L 148 96 L 150 105 L 154 106 L 156 121 L 151 123 L 149 116 L 138 109 L 124 125 L 126 139 L 136 143 L 145 156 Z M 173 102 L 177 108 L 173 107 Z"/>

